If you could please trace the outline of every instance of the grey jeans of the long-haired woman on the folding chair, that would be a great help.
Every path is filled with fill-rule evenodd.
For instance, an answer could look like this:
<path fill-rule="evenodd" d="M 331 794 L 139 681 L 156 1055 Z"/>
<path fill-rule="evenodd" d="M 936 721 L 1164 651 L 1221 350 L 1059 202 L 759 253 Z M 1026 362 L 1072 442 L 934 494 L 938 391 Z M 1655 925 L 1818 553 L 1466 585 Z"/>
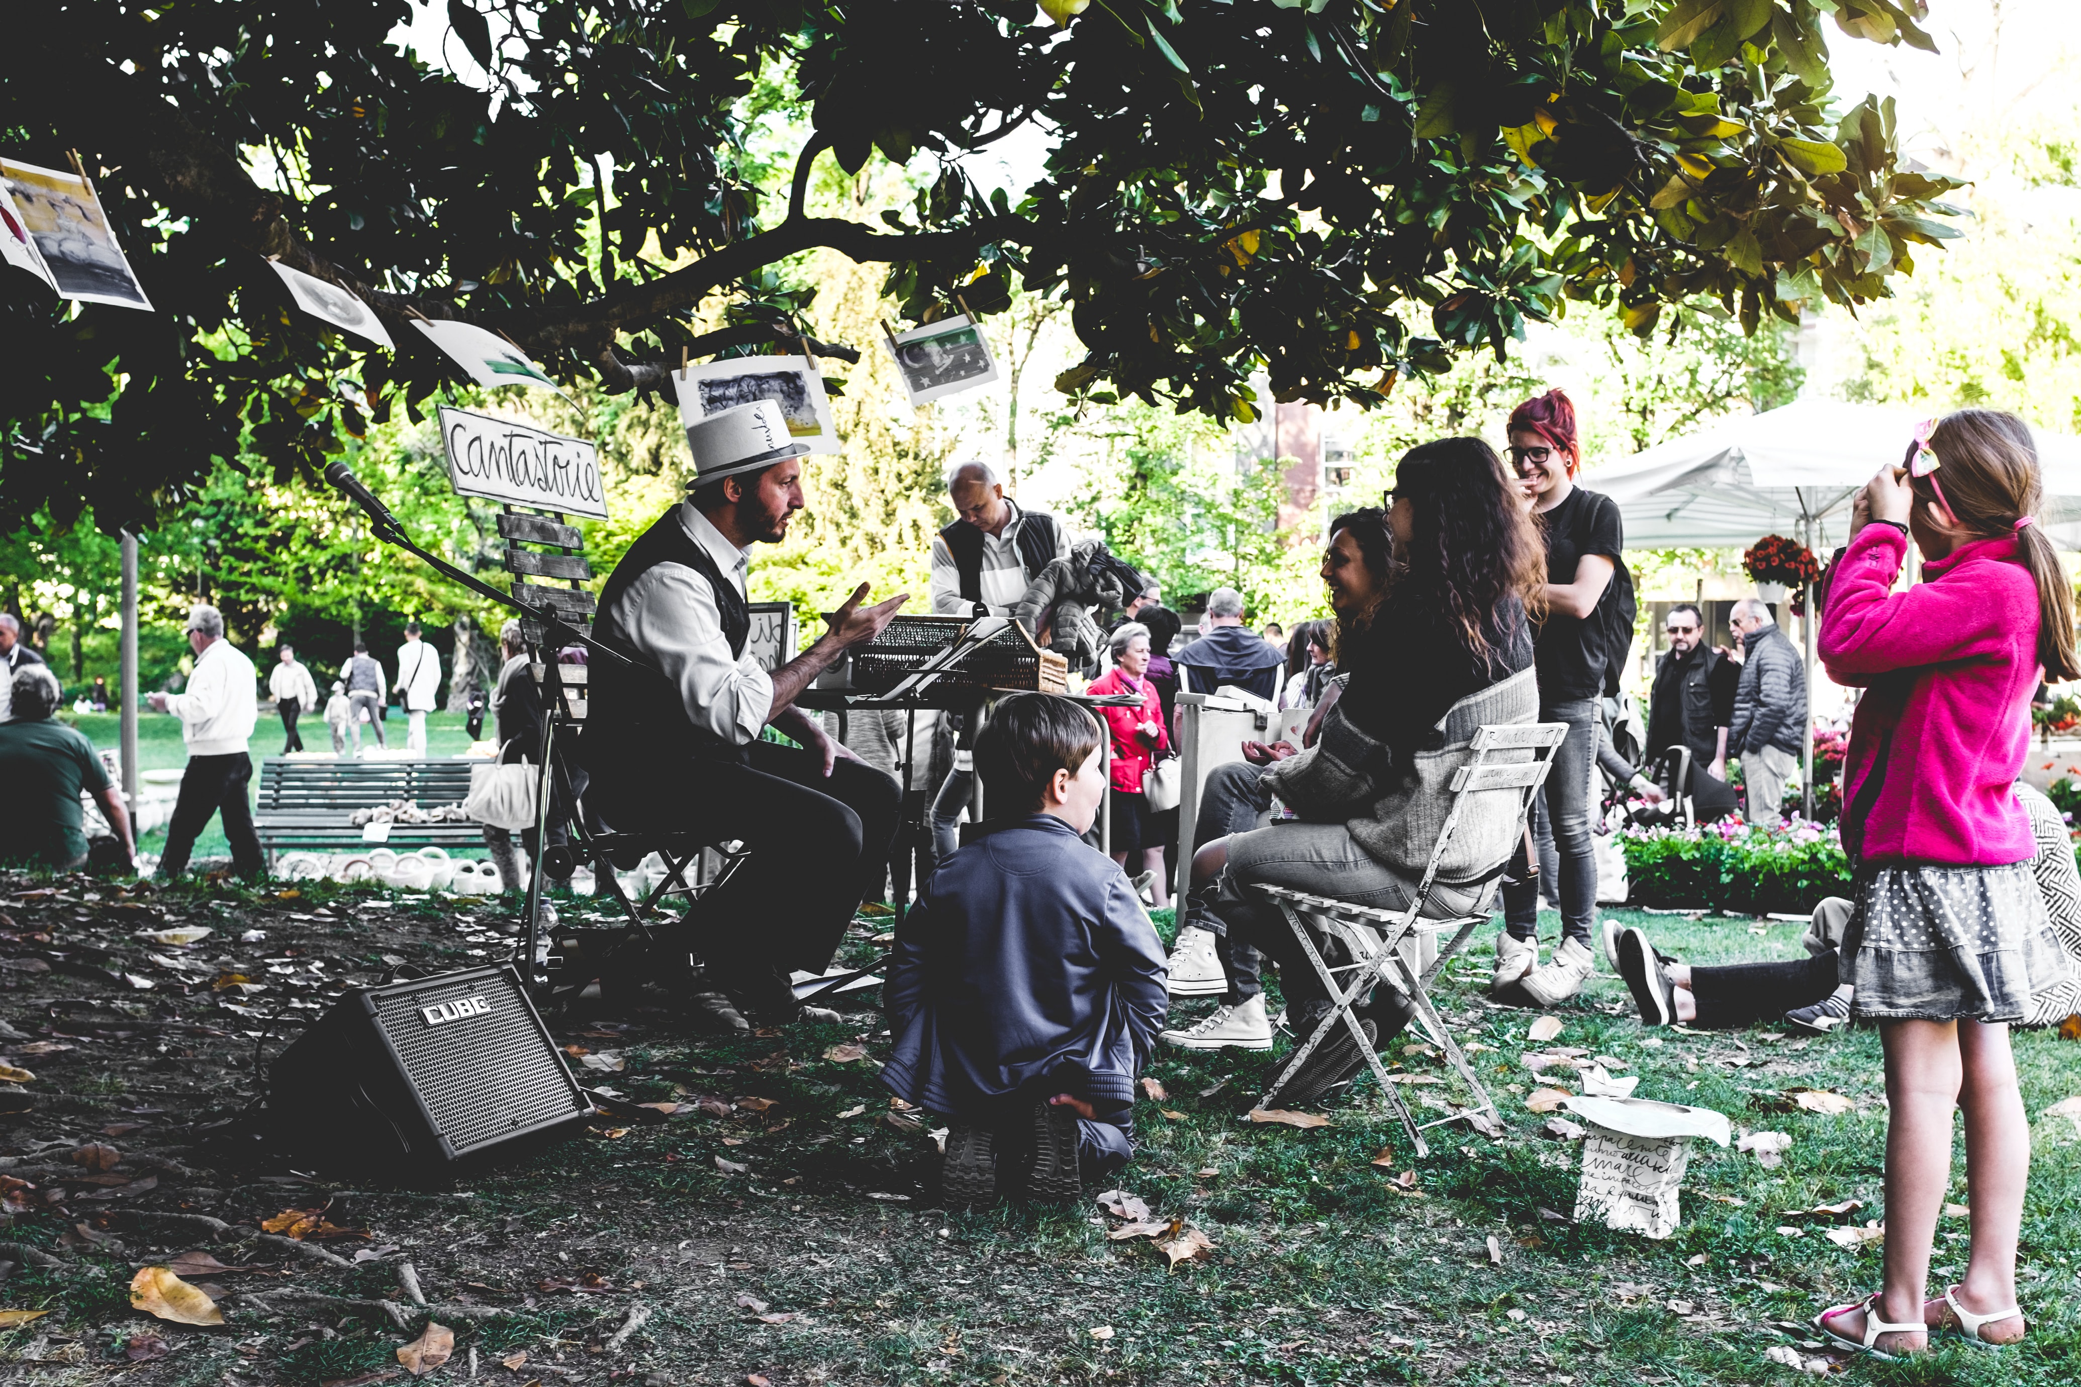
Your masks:
<path fill-rule="evenodd" d="M 1213 909 L 1232 940 L 1263 950 L 1280 965 L 1280 988 L 1294 1015 L 1317 1011 L 1330 998 L 1286 917 L 1251 886 L 1288 886 L 1382 911 L 1409 909 L 1417 894 L 1415 880 L 1369 857 L 1342 823 L 1274 823 L 1230 838 L 1228 871 Z M 1432 884 L 1425 915 L 1446 919 L 1469 913 L 1484 894 L 1482 886 Z"/>

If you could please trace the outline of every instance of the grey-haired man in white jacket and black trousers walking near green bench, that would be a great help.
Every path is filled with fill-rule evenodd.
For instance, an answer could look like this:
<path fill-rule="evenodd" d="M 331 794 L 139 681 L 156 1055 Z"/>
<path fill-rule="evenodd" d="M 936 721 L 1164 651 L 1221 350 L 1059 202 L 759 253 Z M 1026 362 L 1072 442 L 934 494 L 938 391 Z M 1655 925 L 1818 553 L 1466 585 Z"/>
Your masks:
<path fill-rule="evenodd" d="M 208 828 L 212 813 L 223 813 L 231 867 L 241 878 L 258 878 L 266 863 L 246 796 L 254 776 L 246 747 L 260 711 L 254 661 L 225 640 L 225 616 L 216 607 L 194 607 L 187 613 L 187 647 L 196 651 L 187 690 L 152 695 L 154 709 L 181 719 L 181 740 L 187 742 L 187 771 L 181 774 L 181 799 L 173 805 L 158 871 L 166 880 L 179 878 L 187 869 L 196 836 Z"/>

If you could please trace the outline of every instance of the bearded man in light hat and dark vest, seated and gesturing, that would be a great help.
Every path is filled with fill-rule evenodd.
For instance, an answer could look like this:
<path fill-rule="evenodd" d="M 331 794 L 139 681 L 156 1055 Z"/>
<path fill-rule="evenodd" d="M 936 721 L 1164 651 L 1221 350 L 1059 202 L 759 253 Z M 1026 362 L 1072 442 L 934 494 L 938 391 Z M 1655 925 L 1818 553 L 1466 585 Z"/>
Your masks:
<path fill-rule="evenodd" d="M 772 674 L 745 657 L 751 545 L 801 509 L 801 455 L 780 405 L 760 399 L 687 426 L 691 495 L 614 566 L 593 636 L 637 657 L 593 665 L 581 757 L 591 809 L 631 830 L 743 840 L 751 857 L 687 913 L 705 963 L 695 1015 L 720 1029 L 799 1011 L 791 969 L 824 971 L 889 859 L 897 782 L 830 740 L 795 697 L 866 645 L 909 597 L 864 607 L 868 584 L 816 645 Z M 662 676 L 662 678 L 660 678 Z M 760 740 L 774 726 L 801 749 Z"/>

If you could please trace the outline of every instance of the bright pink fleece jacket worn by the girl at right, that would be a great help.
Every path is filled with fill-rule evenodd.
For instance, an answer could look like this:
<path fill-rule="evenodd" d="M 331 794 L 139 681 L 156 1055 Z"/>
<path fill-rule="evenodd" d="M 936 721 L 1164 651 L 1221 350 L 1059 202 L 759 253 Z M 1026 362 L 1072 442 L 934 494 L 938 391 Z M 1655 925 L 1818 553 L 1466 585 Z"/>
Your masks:
<path fill-rule="evenodd" d="M 2031 749 L 2037 584 L 1977 539 L 1894 593 L 1908 539 L 1867 524 L 1835 564 L 1821 663 L 1867 692 L 1850 722 L 1842 842 L 1869 863 L 1998 867 L 2035 855 L 2012 786 Z"/>

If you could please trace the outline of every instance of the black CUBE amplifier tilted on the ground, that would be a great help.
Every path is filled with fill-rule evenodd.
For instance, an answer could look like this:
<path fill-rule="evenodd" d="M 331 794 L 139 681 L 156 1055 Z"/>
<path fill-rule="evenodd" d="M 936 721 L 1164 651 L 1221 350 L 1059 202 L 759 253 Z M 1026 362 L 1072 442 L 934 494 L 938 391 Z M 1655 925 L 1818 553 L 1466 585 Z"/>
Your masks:
<path fill-rule="evenodd" d="M 327 1164 L 449 1171 L 591 1115 L 510 967 L 358 988 L 281 1052 L 268 1119 Z"/>

